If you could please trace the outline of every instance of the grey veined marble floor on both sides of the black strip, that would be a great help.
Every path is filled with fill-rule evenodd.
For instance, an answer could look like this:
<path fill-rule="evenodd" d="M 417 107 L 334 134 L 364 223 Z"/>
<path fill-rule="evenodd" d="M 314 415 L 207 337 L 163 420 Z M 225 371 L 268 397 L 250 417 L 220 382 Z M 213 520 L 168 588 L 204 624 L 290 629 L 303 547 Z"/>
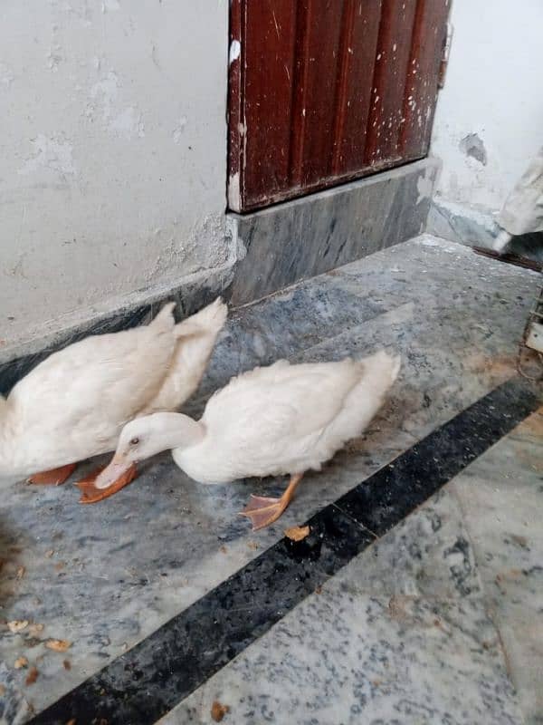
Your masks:
<path fill-rule="evenodd" d="M 93 507 L 81 507 L 69 484 L 14 483 L 0 502 L 0 721 L 41 711 L 34 720 L 71 720 L 68 710 L 49 719 L 47 708 L 102 668 L 119 669 L 173 617 L 279 546 L 284 528 L 507 381 L 539 284 L 533 272 L 423 236 L 233 310 L 187 411 L 200 411 L 233 374 L 280 357 L 381 347 L 403 357 L 366 435 L 308 476 L 262 532 L 236 514 L 250 491 L 274 495 L 283 481 L 205 488 L 167 455 Z M 371 546 L 183 701 L 170 693 L 166 721 L 213 721 L 216 700 L 230 707 L 224 722 L 236 723 L 543 722 L 541 430 L 534 413 L 386 536 L 372 543 L 371 534 Z M 27 624 L 13 632 L 14 621 Z M 56 652 L 50 639 L 71 646 Z M 163 681 L 159 659 L 147 666 Z"/>

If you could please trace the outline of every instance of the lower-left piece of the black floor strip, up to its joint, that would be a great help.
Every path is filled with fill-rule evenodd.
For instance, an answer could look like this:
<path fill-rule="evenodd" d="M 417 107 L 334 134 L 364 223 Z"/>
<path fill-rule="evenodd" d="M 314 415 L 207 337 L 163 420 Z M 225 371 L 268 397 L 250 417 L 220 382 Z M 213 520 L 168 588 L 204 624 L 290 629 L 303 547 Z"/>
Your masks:
<path fill-rule="evenodd" d="M 373 540 L 334 507 L 310 536 L 281 539 L 33 723 L 150 725 L 194 691 Z"/>

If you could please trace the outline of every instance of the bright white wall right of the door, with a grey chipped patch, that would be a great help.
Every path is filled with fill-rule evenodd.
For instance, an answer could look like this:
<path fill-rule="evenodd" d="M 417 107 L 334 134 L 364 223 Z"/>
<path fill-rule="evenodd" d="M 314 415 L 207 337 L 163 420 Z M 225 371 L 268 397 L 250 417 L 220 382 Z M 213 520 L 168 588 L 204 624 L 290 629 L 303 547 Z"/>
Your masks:
<path fill-rule="evenodd" d="M 495 210 L 543 145 L 543 1 L 452 0 L 451 21 L 433 127 L 438 193 Z M 462 150 L 469 134 L 480 137 L 486 165 Z"/>

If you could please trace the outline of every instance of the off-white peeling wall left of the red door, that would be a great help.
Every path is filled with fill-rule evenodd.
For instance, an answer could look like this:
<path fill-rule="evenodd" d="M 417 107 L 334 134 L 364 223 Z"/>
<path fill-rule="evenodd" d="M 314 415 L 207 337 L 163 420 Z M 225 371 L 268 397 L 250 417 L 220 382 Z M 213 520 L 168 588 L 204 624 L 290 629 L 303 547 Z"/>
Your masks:
<path fill-rule="evenodd" d="M 0 4 L 0 338 L 224 264 L 227 15 Z"/>

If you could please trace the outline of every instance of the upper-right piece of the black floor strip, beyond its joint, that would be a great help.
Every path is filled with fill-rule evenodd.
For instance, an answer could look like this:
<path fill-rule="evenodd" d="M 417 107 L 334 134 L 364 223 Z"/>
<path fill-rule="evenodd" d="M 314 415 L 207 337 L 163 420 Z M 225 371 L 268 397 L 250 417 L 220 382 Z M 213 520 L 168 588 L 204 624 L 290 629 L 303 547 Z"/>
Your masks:
<path fill-rule="evenodd" d="M 336 506 L 383 536 L 537 407 L 533 389 L 514 378 L 350 490 Z"/>

